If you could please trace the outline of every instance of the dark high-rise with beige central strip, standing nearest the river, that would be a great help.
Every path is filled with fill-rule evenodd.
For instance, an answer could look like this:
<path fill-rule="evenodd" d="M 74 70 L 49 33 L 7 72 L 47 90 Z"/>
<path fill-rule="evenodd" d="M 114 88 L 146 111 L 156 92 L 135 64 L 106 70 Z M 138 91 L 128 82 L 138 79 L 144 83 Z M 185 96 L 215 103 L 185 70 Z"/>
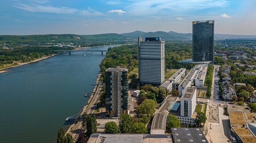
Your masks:
<path fill-rule="evenodd" d="M 106 116 L 128 113 L 128 69 L 109 68 L 106 76 Z"/>

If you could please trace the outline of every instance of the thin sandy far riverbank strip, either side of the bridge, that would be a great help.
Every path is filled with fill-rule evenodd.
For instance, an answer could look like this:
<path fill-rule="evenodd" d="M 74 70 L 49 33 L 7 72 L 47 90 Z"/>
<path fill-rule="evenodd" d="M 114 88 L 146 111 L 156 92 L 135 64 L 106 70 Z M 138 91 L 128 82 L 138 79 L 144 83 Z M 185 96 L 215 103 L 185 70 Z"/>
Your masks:
<path fill-rule="evenodd" d="M 118 44 L 118 45 L 125 45 L 125 44 Z M 80 47 L 80 48 L 76 48 L 76 49 L 73 49 L 73 51 L 76 51 L 76 50 L 80 50 L 80 49 L 88 49 L 88 48 L 99 48 L 99 47 L 104 47 L 104 46 L 113 46 L 113 45 L 100 45 L 100 46 L 93 46 L 93 47 Z M 58 55 L 58 54 L 52 54 L 50 56 L 43 56 L 39 59 L 35 59 L 33 61 L 30 61 L 30 62 L 26 62 L 26 63 L 18 63 L 18 65 L 13 65 L 13 66 L 8 66 L 8 67 L 4 67 L 2 69 L 0 69 L 0 73 L 4 73 L 4 72 L 7 72 L 8 70 L 6 69 L 9 69 L 9 68 L 12 68 L 12 67 L 16 67 L 16 66 L 22 66 L 22 65 L 26 65 L 28 63 L 34 63 L 34 62 L 37 62 L 37 61 L 40 61 L 40 60 L 43 60 L 43 59 L 47 59 L 51 56 L 55 56 L 55 55 Z"/>

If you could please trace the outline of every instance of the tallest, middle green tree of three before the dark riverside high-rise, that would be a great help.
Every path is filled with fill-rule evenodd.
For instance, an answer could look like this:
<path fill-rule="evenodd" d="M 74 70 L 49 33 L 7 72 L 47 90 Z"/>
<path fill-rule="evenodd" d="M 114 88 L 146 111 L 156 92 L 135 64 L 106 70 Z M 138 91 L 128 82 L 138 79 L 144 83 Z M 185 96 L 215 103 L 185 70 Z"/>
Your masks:
<path fill-rule="evenodd" d="M 130 133 L 133 125 L 134 121 L 129 114 L 121 115 L 119 118 L 118 128 L 120 133 Z"/>

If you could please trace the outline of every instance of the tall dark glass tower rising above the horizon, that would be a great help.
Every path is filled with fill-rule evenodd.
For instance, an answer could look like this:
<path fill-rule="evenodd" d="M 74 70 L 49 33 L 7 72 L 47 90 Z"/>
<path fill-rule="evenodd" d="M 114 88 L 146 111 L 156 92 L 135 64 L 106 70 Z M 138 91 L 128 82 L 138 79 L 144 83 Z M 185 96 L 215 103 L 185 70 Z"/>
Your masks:
<path fill-rule="evenodd" d="M 193 21 L 193 60 L 213 61 L 214 21 Z"/>

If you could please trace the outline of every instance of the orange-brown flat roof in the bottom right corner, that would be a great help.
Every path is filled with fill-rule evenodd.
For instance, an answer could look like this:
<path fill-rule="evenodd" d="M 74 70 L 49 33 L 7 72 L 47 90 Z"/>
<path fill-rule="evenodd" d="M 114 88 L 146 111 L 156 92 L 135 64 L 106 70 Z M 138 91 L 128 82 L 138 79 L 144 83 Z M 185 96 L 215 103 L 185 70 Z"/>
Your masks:
<path fill-rule="evenodd" d="M 256 143 L 256 137 L 254 134 L 248 129 L 247 123 L 252 123 L 252 120 L 256 122 L 255 119 L 250 116 L 252 113 L 248 112 L 237 112 L 230 111 L 229 119 L 231 128 L 234 129 L 236 134 L 241 138 L 244 143 Z"/>

